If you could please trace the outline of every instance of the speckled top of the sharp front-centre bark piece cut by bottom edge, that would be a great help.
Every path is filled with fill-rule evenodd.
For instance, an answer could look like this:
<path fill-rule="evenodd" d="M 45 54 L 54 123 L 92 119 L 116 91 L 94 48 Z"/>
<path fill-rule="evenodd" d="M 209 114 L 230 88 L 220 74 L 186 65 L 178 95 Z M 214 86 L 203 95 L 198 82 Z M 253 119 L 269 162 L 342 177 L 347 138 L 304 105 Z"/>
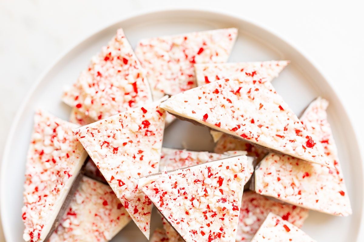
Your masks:
<path fill-rule="evenodd" d="M 139 179 L 139 188 L 186 242 L 235 241 L 246 156 Z"/>

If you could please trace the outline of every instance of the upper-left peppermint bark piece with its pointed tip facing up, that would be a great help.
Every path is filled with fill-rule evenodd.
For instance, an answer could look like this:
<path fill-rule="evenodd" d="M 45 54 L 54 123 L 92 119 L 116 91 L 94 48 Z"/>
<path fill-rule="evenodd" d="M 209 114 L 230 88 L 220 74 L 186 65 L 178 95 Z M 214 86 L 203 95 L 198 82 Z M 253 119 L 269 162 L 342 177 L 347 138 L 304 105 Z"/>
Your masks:
<path fill-rule="evenodd" d="M 122 29 L 92 57 L 88 69 L 64 92 L 62 100 L 94 120 L 151 100 L 145 73 Z"/>

